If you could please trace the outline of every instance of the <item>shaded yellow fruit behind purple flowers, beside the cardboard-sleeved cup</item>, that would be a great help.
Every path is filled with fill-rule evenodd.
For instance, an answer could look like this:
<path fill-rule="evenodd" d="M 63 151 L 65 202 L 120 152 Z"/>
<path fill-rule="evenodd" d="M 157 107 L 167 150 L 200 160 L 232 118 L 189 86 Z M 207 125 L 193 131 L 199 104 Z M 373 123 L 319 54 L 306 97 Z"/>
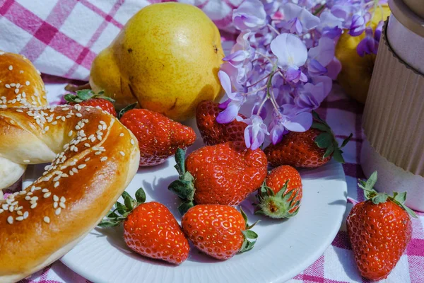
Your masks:
<path fill-rule="evenodd" d="M 373 10 L 370 11 L 372 13 Z M 390 15 L 389 6 L 384 5 L 382 9 L 375 10 L 375 14 L 371 19 L 371 27 L 373 30 L 381 20 L 386 20 Z M 336 45 L 336 57 L 341 62 L 341 71 L 337 76 L 337 81 L 343 87 L 344 91 L 358 100 L 365 103 L 367 99 L 368 88 L 372 69 L 374 69 L 375 54 L 366 54 L 360 57 L 356 52 L 358 43 L 365 37 L 365 32 L 359 36 L 351 36 L 345 30 Z"/>

